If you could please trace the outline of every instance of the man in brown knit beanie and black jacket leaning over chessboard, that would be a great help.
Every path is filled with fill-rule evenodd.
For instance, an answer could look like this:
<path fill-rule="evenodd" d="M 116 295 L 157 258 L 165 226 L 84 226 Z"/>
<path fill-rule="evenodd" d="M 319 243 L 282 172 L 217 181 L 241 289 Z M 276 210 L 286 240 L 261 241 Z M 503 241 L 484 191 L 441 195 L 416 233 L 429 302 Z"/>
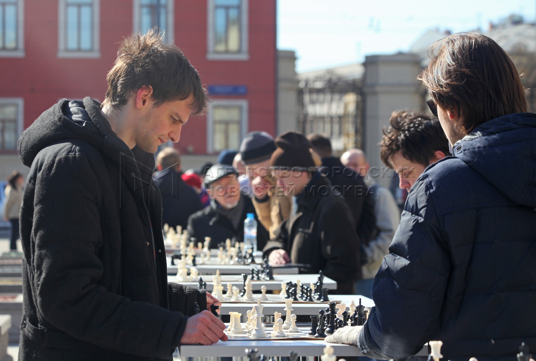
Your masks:
<path fill-rule="evenodd" d="M 309 271 L 323 271 L 337 281 L 337 294 L 353 294 L 361 264 L 359 237 L 348 205 L 332 192 L 329 180 L 312 171 L 315 162 L 306 137 L 287 132 L 276 144 L 270 167 L 293 206 L 264 254 L 272 264 L 309 264 Z"/>

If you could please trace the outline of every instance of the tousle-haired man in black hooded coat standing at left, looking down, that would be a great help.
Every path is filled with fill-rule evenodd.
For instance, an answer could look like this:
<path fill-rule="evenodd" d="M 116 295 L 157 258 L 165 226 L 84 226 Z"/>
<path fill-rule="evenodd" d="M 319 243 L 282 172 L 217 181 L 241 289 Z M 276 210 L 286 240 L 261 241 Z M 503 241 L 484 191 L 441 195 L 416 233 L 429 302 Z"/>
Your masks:
<path fill-rule="evenodd" d="M 170 359 L 180 344 L 226 340 L 206 311 L 217 300 L 167 282 L 152 180 L 158 145 L 205 107 L 199 75 L 151 30 L 123 41 L 107 79 L 102 105 L 62 99 L 18 142 L 31 167 L 19 360 Z"/>

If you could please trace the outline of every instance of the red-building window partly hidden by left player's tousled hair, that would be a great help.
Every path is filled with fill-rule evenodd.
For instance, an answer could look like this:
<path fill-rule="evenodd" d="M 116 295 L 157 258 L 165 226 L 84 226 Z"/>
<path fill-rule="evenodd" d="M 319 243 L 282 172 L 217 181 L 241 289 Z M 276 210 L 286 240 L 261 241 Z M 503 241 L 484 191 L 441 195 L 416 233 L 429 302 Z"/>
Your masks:
<path fill-rule="evenodd" d="M 133 31 L 147 33 L 149 29 L 159 29 L 167 42 L 173 41 L 174 2 L 173 0 L 133 0 Z"/>

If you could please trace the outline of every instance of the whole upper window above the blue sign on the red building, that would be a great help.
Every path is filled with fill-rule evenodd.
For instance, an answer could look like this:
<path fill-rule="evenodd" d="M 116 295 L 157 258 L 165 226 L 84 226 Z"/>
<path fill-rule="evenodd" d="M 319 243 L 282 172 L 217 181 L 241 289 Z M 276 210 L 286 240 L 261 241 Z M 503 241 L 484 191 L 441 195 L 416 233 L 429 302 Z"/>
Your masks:
<path fill-rule="evenodd" d="M 248 0 L 207 1 L 207 59 L 248 60 Z"/>

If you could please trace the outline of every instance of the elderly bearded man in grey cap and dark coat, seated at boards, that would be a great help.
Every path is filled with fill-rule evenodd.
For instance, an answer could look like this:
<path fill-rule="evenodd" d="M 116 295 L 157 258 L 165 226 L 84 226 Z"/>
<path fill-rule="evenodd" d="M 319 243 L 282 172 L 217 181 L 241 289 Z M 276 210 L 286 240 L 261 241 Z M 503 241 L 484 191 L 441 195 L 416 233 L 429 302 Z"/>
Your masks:
<path fill-rule="evenodd" d="M 188 219 L 189 239 L 195 237 L 203 241 L 205 237 L 211 237 L 210 248 L 217 248 L 218 243 L 228 238 L 242 242 L 244 220 L 248 213 L 255 214 L 255 208 L 251 199 L 241 193 L 236 170 L 232 166 L 213 165 L 207 171 L 204 183 L 211 202 Z M 268 232 L 257 219 L 257 247 L 262 249 L 268 239 Z"/>

